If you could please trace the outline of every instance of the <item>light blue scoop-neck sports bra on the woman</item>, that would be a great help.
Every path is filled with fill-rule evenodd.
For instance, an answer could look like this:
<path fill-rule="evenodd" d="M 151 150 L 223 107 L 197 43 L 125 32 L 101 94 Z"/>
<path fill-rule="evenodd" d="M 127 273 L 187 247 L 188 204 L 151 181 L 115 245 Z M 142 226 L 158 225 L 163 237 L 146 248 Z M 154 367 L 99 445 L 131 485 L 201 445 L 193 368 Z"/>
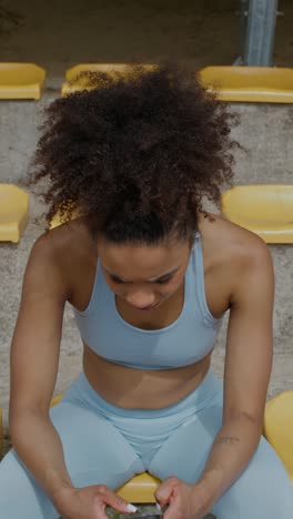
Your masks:
<path fill-rule="evenodd" d="M 99 260 L 90 303 L 84 312 L 73 312 L 82 339 L 94 353 L 138 369 L 172 369 L 201 360 L 213 349 L 222 323 L 206 305 L 200 233 L 185 272 L 183 308 L 169 326 L 141 329 L 127 323 Z"/>

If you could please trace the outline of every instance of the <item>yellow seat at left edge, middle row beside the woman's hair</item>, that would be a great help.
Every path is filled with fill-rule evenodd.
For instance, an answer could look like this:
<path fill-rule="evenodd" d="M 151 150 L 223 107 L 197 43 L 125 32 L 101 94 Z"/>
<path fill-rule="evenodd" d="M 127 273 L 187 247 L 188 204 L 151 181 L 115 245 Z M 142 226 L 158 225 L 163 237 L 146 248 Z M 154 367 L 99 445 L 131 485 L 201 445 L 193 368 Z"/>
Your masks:
<path fill-rule="evenodd" d="M 13 184 L 0 184 L 0 242 L 17 243 L 29 221 L 29 195 Z"/>

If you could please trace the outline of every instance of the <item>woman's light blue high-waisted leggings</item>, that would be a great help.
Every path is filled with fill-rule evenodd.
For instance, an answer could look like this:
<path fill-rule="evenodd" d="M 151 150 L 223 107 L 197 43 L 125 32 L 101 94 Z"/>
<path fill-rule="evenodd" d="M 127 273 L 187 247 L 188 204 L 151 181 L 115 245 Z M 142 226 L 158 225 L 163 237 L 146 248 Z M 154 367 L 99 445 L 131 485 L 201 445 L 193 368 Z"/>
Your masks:
<path fill-rule="evenodd" d="M 194 484 L 222 421 L 222 383 L 209 372 L 174 406 L 125 410 L 103 400 L 80 375 L 51 418 L 77 487 L 115 489 L 148 470 Z M 279 457 L 261 439 L 241 477 L 215 503 L 218 519 L 292 519 L 293 488 Z M 0 519 L 55 519 L 58 512 L 11 450 L 0 464 Z"/>

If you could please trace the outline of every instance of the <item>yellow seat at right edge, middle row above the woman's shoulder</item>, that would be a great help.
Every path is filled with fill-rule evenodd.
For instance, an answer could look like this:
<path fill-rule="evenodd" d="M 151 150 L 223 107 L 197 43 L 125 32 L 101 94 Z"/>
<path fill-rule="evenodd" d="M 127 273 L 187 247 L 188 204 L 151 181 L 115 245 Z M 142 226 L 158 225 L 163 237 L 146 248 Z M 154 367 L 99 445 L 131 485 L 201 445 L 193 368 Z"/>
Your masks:
<path fill-rule="evenodd" d="M 266 243 L 293 243 L 293 184 L 232 187 L 222 195 L 222 214 Z"/>

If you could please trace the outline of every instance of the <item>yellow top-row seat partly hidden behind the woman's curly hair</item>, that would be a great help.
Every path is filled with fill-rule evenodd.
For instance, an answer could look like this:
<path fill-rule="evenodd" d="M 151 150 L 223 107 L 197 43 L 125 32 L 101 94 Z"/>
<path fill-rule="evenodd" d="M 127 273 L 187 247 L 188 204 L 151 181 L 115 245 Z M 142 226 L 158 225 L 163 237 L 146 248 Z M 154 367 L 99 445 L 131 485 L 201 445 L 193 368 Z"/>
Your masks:
<path fill-rule="evenodd" d="M 153 69 L 154 64 L 142 64 L 145 69 Z M 68 95 L 79 90 L 90 89 L 88 79 L 82 77 L 82 72 L 107 72 L 115 77 L 127 71 L 128 63 L 82 63 L 69 69 L 65 73 L 65 82 L 62 84 L 61 94 Z"/>

